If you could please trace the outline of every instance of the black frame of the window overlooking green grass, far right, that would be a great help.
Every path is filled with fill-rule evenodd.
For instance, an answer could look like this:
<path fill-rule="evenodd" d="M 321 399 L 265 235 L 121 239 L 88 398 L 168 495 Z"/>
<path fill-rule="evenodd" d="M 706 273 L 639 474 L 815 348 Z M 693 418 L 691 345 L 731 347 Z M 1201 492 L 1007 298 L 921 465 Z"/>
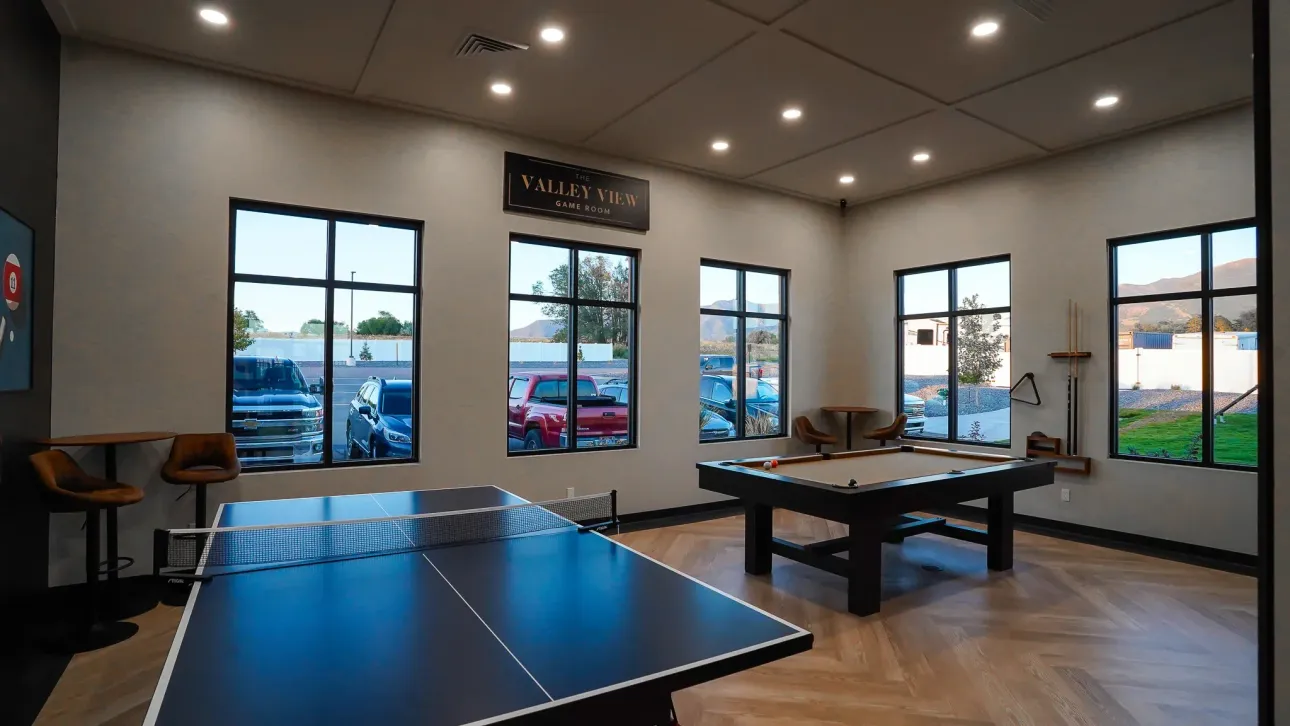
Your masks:
<path fill-rule="evenodd" d="M 1180 467 L 1197 467 L 1205 469 L 1224 469 L 1224 471 L 1240 471 L 1240 472 L 1258 472 L 1259 466 L 1255 463 L 1253 467 L 1245 464 L 1232 464 L 1226 462 L 1214 460 L 1214 299 L 1215 298 L 1229 298 L 1229 297 L 1255 297 L 1259 302 L 1263 300 L 1263 288 L 1265 281 L 1263 279 L 1260 266 L 1255 264 L 1255 282 L 1254 285 L 1246 285 L 1242 288 L 1219 288 L 1214 289 L 1214 235 L 1220 232 L 1232 232 L 1236 230 L 1254 230 L 1256 236 L 1255 254 L 1263 251 L 1259 246 L 1258 235 L 1259 227 L 1258 221 L 1254 218 L 1232 219 L 1228 222 L 1216 222 L 1213 224 L 1197 224 L 1193 227 L 1179 227 L 1176 230 L 1165 230 L 1162 232 L 1149 232 L 1146 235 L 1130 235 L 1126 237 L 1112 237 L 1107 240 L 1107 315 L 1109 330 L 1109 340 L 1107 349 L 1111 351 L 1112 361 L 1111 369 L 1111 391 L 1109 391 L 1109 422 L 1108 422 L 1108 458 L 1111 459 L 1124 459 L 1130 462 L 1144 462 L 1152 464 L 1176 464 Z M 1117 295 L 1118 280 L 1116 268 L 1116 250 L 1140 242 L 1160 242 L 1167 240 L 1179 240 L 1184 237 L 1200 237 L 1201 239 L 1201 289 L 1188 290 L 1182 293 L 1161 293 L 1155 295 Z M 1176 302 L 1176 300 L 1197 300 L 1201 303 L 1201 460 L 1195 462 L 1191 459 L 1166 459 L 1164 456 L 1143 456 L 1135 454 L 1121 454 L 1120 453 L 1120 322 L 1117 317 L 1117 309 L 1121 304 L 1131 303 L 1160 303 L 1160 302 Z M 1263 306 L 1258 306 L 1258 326 L 1262 329 L 1263 321 L 1267 320 L 1267 312 L 1264 312 Z M 1264 340 L 1262 339 L 1262 331 L 1259 334 L 1259 347 L 1262 348 Z M 1260 380 L 1260 384 L 1263 382 Z M 1260 411 L 1260 417 L 1262 417 Z M 1258 442 L 1262 450 L 1265 442 L 1260 438 Z"/>

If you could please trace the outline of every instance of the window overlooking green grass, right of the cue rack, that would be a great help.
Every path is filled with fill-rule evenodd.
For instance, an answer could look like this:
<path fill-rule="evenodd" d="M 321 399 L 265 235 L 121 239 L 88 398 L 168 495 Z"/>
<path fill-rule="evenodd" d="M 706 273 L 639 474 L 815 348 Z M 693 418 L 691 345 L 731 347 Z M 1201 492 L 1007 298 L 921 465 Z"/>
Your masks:
<path fill-rule="evenodd" d="M 1255 242 L 1249 221 L 1109 242 L 1112 456 L 1258 466 Z"/>

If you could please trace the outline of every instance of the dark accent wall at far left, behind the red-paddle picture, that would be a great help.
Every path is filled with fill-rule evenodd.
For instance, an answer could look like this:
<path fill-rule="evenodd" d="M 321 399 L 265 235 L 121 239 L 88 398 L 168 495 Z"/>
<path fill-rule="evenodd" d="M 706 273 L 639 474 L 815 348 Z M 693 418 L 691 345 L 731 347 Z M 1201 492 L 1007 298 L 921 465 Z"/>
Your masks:
<path fill-rule="evenodd" d="M 0 393 L 0 603 L 48 582 L 49 517 L 27 454 L 49 436 L 58 74 L 58 31 L 40 0 L 0 1 L 0 208 L 36 233 L 32 389 Z"/>

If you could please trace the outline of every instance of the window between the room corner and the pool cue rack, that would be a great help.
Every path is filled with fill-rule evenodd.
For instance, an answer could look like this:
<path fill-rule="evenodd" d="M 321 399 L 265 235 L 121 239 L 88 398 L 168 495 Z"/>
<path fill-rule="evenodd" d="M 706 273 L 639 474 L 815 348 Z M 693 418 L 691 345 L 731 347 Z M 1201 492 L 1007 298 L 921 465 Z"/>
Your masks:
<path fill-rule="evenodd" d="M 1011 263 L 897 272 L 897 410 L 907 437 L 1011 445 Z"/>

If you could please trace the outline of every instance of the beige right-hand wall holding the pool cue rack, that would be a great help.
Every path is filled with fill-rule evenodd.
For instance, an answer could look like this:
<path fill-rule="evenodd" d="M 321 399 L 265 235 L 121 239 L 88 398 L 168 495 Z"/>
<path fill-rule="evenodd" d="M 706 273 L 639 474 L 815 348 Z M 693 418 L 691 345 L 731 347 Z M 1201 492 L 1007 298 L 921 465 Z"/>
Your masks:
<path fill-rule="evenodd" d="M 844 398 L 894 407 L 893 271 L 1009 253 L 1013 259 L 1013 378 L 1033 371 L 1044 405 L 1013 406 L 1013 451 L 1026 435 L 1066 436 L 1066 304 L 1085 315 L 1081 453 L 1091 477 L 1018 495 L 1019 512 L 1236 552 L 1255 552 L 1256 481 L 1250 473 L 1108 460 L 1109 237 L 1254 215 L 1249 108 L 1210 116 L 1047 161 L 849 211 L 846 309 L 837 380 Z"/>

